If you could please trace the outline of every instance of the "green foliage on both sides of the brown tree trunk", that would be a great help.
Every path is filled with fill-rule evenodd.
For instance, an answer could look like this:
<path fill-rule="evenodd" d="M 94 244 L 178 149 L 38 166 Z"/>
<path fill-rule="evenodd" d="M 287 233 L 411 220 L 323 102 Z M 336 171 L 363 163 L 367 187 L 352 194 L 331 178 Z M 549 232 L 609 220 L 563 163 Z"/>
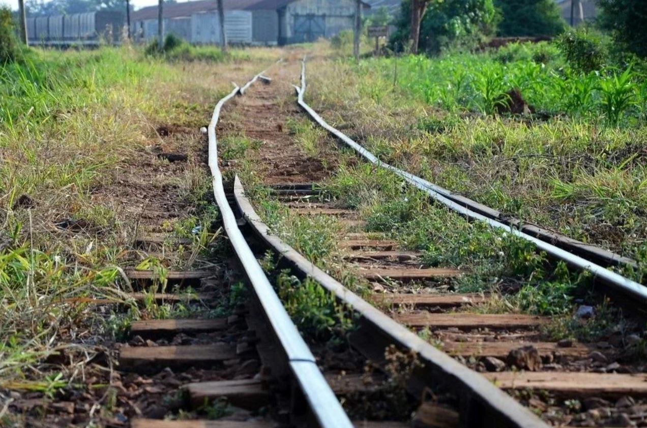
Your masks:
<path fill-rule="evenodd" d="M 404 50 L 410 41 L 411 1 L 402 1 L 397 30 L 390 43 Z M 498 14 L 492 0 L 433 1 L 422 18 L 420 52 L 436 53 L 444 48 L 474 48 L 494 34 Z"/>

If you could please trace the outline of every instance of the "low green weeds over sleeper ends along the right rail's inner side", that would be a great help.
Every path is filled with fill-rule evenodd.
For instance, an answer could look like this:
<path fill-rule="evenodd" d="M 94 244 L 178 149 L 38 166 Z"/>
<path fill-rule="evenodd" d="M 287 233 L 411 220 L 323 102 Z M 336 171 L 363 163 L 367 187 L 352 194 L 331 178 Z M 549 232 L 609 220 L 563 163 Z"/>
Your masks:
<path fill-rule="evenodd" d="M 387 233 L 402 248 L 421 251 L 424 266 L 464 269 L 449 291 L 497 296 L 474 310 L 552 316 L 547 336 L 586 341 L 623 323 L 622 314 L 592 296 L 588 273 L 571 272 L 530 242 L 430 203 L 426 193 L 389 171 L 370 164 L 346 166 L 342 160 L 325 189 L 342 206 L 362 212 L 366 231 Z M 595 306 L 595 316 L 575 319 L 580 305 Z"/>

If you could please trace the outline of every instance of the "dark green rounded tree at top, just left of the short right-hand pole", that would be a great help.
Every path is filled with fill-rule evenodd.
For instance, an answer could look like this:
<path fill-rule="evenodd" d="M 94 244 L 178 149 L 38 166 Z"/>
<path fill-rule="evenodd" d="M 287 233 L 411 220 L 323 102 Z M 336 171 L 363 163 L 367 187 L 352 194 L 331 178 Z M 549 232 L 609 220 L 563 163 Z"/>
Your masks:
<path fill-rule="evenodd" d="M 566 23 L 554 0 L 495 0 L 501 11 L 499 36 L 556 36 Z"/>

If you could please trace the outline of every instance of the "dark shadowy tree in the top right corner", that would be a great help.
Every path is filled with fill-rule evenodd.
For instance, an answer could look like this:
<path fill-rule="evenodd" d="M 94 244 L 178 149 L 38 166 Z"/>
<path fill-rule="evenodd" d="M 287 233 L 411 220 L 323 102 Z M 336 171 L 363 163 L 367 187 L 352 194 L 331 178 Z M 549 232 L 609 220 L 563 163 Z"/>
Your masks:
<path fill-rule="evenodd" d="M 647 58 L 647 2 L 598 0 L 600 25 L 611 30 L 620 47 Z"/>

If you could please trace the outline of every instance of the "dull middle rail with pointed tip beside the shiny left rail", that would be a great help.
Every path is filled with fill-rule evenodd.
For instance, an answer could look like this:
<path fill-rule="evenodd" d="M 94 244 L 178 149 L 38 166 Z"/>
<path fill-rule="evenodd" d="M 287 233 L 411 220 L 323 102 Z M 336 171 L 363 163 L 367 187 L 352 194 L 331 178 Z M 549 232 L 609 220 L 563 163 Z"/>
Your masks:
<path fill-rule="evenodd" d="M 428 373 L 428 377 L 435 386 L 439 378 L 443 378 L 444 383 L 449 385 L 450 390 L 459 393 L 459 399 L 469 401 L 474 397 L 480 403 L 485 404 L 488 408 L 492 409 L 498 420 L 483 421 L 483 414 L 475 416 L 476 420 L 481 420 L 480 423 L 475 423 L 474 420 L 466 423 L 470 427 L 474 426 L 496 426 L 496 427 L 514 427 L 514 428 L 546 428 L 547 425 L 542 422 L 534 413 L 526 409 L 520 403 L 515 401 L 501 389 L 497 388 L 493 383 L 486 378 L 468 369 L 454 358 L 448 356 L 443 351 L 433 347 L 430 343 L 422 340 L 416 334 L 408 330 L 397 321 L 386 316 L 375 306 L 367 303 L 364 299 L 345 288 L 336 279 L 323 272 L 317 266 L 308 261 L 298 251 L 294 250 L 291 246 L 283 242 L 276 235 L 271 235 L 270 230 L 263 220 L 258 217 L 251 202 L 245 196 L 245 189 L 238 177 L 234 182 L 234 197 L 236 197 L 236 204 L 243 213 L 243 217 L 247 223 L 252 227 L 256 234 L 265 241 L 270 248 L 274 248 L 282 257 L 289 260 L 292 265 L 296 266 L 298 270 L 303 272 L 321 284 L 324 288 L 332 292 L 336 297 L 344 302 L 349 307 L 358 312 L 365 321 L 370 323 L 373 328 L 379 332 L 384 332 L 388 336 L 390 343 L 396 343 L 401 348 L 410 349 L 419 355 L 425 363 L 423 370 L 435 372 Z M 373 339 L 367 339 L 369 341 Z M 383 352 L 383 350 L 382 350 Z M 458 390 L 458 391 L 457 391 Z M 479 406 L 470 405 L 470 403 L 462 403 L 463 409 L 474 409 Z M 461 414 L 461 418 L 469 418 L 468 415 Z"/>

